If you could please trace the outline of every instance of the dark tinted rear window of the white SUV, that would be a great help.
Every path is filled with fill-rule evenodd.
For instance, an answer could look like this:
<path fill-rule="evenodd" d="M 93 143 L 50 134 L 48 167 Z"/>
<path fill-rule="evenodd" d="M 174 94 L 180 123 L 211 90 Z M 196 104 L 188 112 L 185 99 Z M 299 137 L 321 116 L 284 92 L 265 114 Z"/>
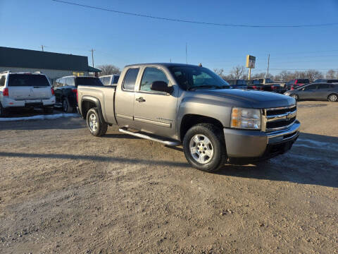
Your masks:
<path fill-rule="evenodd" d="M 8 87 L 46 87 L 49 82 L 45 75 L 35 74 L 10 74 L 8 78 Z"/>

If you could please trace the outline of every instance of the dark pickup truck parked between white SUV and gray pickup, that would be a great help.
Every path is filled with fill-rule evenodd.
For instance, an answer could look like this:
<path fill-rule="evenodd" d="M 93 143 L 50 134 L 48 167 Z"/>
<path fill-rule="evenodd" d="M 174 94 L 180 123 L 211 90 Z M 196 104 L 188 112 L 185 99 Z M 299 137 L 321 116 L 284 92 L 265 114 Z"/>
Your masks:
<path fill-rule="evenodd" d="M 98 85 L 103 86 L 96 77 L 67 76 L 58 78 L 54 83 L 56 107 L 62 107 L 64 112 L 75 112 L 77 108 L 77 86 Z"/>

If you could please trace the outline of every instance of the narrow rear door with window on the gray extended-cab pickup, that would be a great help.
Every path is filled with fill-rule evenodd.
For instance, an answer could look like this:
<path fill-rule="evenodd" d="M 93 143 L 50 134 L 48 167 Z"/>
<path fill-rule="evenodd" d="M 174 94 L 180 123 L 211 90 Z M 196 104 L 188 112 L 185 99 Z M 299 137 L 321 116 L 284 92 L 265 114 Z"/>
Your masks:
<path fill-rule="evenodd" d="M 135 85 L 139 81 L 139 67 L 125 71 L 121 85 L 115 95 L 115 116 L 119 126 L 134 128 Z M 113 103 L 113 102 L 112 102 Z"/>

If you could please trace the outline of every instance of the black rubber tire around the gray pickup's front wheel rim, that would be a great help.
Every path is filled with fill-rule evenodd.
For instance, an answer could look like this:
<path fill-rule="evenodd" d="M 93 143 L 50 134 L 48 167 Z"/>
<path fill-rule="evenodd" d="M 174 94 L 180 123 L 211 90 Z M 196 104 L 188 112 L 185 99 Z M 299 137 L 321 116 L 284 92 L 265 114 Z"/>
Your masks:
<path fill-rule="evenodd" d="M 203 155 L 202 153 L 204 153 L 203 149 L 206 149 L 205 147 L 201 147 L 201 143 L 199 143 L 200 146 L 196 149 L 195 153 L 192 153 L 190 151 L 191 144 L 195 144 L 193 146 L 196 147 L 196 142 L 194 142 L 194 138 L 199 138 L 199 135 L 201 135 L 201 138 L 205 136 L 206 138 L 208 138 L 208 140 L 210 140 L 212 149 L 209 149 L 210 147 L 208 147 L 208 150 L 213 150 L 213 155 L 211 157 L 204 155 L 204 157 L 207 157 L 206 162 L 204 163 L 200 163 L 198 162 L 198 159 L 196 159 L 196 155 L 201 157 L 201 155 Z M 220 167 L 223 167 L 227 160 L 224 135 L 219 128 L 211 123 L 200 123 L 196 126 L 192 126 L 192 128 L 190 128 L 184 135 L 183 150 L 189 164 L 191 164 L 192 167 L 201 171 L 217 171 L 218 169 L 220 169 Z"/>

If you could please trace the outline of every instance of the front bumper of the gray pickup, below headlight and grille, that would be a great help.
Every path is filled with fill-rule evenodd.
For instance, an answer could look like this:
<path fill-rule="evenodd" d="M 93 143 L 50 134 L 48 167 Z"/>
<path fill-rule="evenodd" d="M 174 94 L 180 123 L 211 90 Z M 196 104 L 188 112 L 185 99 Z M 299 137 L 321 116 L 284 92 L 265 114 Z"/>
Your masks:
<path fill-rule="evenodd" d="M 299 136 L 300 126 L 301 123 L 295 121 L 287 129 L 270 133 L 224 128 L 227 156 L 234 158 L 263 157 L 270 147 L 283 143 L 288 144 L 287 148 L 289 149 Z M 283 149 L 282 147 L 280 153 L 284 152 Z"/>

